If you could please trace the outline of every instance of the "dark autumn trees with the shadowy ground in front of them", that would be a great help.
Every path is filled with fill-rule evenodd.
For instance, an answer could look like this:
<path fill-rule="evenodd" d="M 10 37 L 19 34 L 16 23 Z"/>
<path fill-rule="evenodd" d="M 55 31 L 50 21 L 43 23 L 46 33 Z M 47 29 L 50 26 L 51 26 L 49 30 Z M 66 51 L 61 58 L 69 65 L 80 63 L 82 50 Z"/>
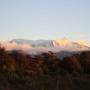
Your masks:
<path fill-rule="evenodd" d="M 0 48 L 0 90 L 89 90 L 85 76 L 90 80 L 90 51 L 60 60 L 50 51 L 28 55 Z"/>

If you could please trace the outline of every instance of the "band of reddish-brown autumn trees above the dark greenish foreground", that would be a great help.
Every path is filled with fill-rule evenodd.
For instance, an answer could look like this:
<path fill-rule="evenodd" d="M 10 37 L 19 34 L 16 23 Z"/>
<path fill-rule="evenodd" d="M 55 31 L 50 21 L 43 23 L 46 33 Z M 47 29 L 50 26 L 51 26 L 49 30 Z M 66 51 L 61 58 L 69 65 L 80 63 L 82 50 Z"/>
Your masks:
<path fill-rule="evenodd" d="M 21 51 L 5 51 L 0 48 L 0 70 L 27 74 L 61 74 L 62 71 L 90 74 L 90 51 L 64 57 L 62 60 L 52 53 L 28 55 Z"/>

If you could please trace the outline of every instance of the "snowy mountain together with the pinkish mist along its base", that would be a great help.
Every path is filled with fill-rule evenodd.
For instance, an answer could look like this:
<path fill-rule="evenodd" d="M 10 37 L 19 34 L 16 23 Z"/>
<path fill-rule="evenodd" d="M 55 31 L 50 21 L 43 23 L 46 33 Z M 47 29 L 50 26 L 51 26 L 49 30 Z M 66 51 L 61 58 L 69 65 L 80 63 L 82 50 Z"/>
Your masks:
<path fill-rule="evenodd" d="M 24 40 L 13 39 L 10 42 L 3 43 L 6 50 L 23 50 L 30 54 L 41 52 L 60 52 L 60 51 L 82 51 L 90 50 L 86 44 L 81 44 L 76 41 L 70 41 L 66 38 L 59 40 Z"/>

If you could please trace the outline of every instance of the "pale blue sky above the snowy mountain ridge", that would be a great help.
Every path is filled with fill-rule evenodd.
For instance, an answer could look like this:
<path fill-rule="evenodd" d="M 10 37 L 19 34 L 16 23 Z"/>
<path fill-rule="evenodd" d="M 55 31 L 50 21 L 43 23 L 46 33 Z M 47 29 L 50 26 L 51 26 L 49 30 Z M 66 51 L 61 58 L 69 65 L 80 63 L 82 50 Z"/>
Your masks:
<path fill-rule="evenodd" d="M 90 0 L 0 0 L 0 40 L 90 42 Z"/>

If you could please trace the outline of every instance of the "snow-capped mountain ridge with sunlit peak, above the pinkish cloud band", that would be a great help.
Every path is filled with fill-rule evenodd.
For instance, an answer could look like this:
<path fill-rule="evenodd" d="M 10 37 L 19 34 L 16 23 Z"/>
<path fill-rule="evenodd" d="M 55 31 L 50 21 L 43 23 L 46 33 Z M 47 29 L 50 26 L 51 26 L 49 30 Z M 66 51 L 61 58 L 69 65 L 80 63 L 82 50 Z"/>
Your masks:
<path fill-rule="evenodd" d="M 28 44 L 32 47 L 72 47 L 72 48 L 89 48 L 86 44 L 77 41 L 70 41 L 66 38 L 58 40 L 24 40 L 13 39 L 10 43 Z"/>

